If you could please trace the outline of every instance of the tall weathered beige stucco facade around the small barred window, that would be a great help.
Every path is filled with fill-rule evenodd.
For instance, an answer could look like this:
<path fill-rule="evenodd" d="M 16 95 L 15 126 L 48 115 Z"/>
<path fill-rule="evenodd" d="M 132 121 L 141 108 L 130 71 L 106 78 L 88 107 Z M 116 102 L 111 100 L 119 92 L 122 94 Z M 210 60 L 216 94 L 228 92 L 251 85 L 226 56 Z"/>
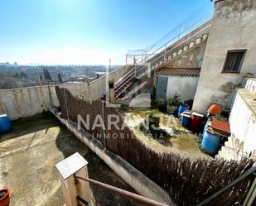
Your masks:
<path fill-rule="evenodd" d="M 212 103 L 227 107 L 234 86 L 244 74 L 256 74 L 256 1 L 215 2 L 193 110 L 205 113 Z M 228 50 L 246 50 L 239 73 L 223 73 Z"/>

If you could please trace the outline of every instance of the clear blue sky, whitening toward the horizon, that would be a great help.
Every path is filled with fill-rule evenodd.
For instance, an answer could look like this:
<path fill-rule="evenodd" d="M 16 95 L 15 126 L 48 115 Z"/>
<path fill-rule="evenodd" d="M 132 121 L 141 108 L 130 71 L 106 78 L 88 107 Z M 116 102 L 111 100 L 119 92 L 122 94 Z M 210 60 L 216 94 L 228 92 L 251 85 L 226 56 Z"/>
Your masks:
<path fill-rule="evenodd" d="M 212 11 L 210 0 L 1 0 L 0 62 L 118 64 Z"/>

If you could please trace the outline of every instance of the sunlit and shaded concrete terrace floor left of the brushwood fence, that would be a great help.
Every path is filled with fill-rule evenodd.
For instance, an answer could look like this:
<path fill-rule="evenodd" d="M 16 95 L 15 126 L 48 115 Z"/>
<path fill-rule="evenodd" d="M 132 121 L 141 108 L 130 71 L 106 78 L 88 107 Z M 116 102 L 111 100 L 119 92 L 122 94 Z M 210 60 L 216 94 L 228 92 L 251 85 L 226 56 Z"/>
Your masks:
<path fill-rule="evenodd" d="M 55 164 L 76 151 L 89 162 L 90 178 L 133 191 L 51 113 L 14 121 L 12 126 L 12 132 L 0 138 L 0 187 L 11 189 L 11 206 L 65 204 Z M 99 186 L 90 187 L 93 205 L 140 205 Z"/>

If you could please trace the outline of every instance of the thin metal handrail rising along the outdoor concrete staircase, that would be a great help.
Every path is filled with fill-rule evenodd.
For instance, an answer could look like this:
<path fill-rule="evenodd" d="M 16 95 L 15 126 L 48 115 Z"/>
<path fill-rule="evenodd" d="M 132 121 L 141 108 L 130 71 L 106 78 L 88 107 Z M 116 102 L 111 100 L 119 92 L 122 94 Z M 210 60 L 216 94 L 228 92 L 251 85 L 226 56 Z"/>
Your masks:
<path fill-rule="evenodd" d="M 167 41 L 167 43 L 165 43 L 163 46 L 160 46 L 157 50 L 154 50 L 151 54 L 145 55 L 145 58 L 144 58 L 143 60 L 141 60 L 138 64 L 143 63 L 143 62 L 147 62 L 147 61 L 151 60 L 153 57 L 150 57 L 150 56 L 152 56 L 152 55 L 158 55 L 158 54 L 156 53 L 158 50 L 161 50 L 163 47 L 167 48 L 167 45 L 168 45 L 171 41 L 174 41 L 176 38 L 180 38 L 183 34 L 186 33 L 186 31 L 190 31 L 194 26 L 196 26 L 199 22 L 201 22 L 203 19 L 205 19 L 205 17 L 209 16 L 209 14 L 210 14 L 210 13 L 207 13 L 205 16 L 201 17 L 198 21 L 196 21 L 196 22 L 194 22 L 193 24 L 191 24 L 191 26 L 187 26 L 184 31 L 182 31 L 181 33 L 179 33 L 177 36 L 173 37 L 170 41 Z M 208 22 L 209 22 L 209 20 L 208 20 Z M 206 22 L 204 22 L 204 23 L 206 23 Z M 202 24 L 202 25 L 203 25 L 203 24 Z M 150 59 L 147 60 L 149 57 L 150 57 Z M 129 74 L 123 75 L 123 78 L 122 78 L 122 79 L 119 79 L 118 82 L 115 84 L 115 88 L 118 88 L 118 86 L 123 83 L 123 79 L 126 80 L 126 79 L 125 79 L 126 77 L 129 78 L 131 75 L 133 75 L 133 74 L 135 73 L 135 70 L 136 70 L 139 66 L 141 66 L 141 65 L 135 65 L 135 66 L 133 67 L 133 69 L 130 70 L 130 72 L 132 72 L 131 74 L 128 72 Z"/>

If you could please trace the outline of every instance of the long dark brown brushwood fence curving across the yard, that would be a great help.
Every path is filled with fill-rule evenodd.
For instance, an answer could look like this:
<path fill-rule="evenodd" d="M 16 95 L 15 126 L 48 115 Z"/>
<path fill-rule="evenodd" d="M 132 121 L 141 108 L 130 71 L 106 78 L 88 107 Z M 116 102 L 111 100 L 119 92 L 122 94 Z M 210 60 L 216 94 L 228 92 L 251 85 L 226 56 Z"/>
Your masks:
<path fill-rule="evenodd" d="M 108 151 L 126 160 L 167 191 L 171 200 L 177 205 L 199 204 L 225 185 L 224 176 L 227 184 L 253 163 L 249 159 L 229 162 L 208 158 L 191 159 L 189 156 L 181 156 L 171 151 L 157 152 L 145 146 L 136 137 L 125 124 L 123 113 L 117 108 L 109 108 L 101 100 L 85 101 L 70 93 L 68 89 L 56 87 L 56 93 L 60 101 L 61 118 L 80 124 L 94 138 L 102 142 Z M 115 126 L 110 120 L 111 118 L 113 120 L 113 117 L 118 120 Z M 87 123 L 81 123 L 82 119 Z M 95 123 L 98 125 L 96 126 Z M 215 180 L 215 184 L 211 184 L 211 180 Z M 239 191 L 248 189 L 251 179 L 249 178 L 248 181 L 244 180 L 236 184 L 233 189 L 212 200 L 211 204 L 227 206 L 237 202 L 242 204 L 245 193 Z M 229 199 L 225 199 L 226 196 L 229 196 Z"/>

